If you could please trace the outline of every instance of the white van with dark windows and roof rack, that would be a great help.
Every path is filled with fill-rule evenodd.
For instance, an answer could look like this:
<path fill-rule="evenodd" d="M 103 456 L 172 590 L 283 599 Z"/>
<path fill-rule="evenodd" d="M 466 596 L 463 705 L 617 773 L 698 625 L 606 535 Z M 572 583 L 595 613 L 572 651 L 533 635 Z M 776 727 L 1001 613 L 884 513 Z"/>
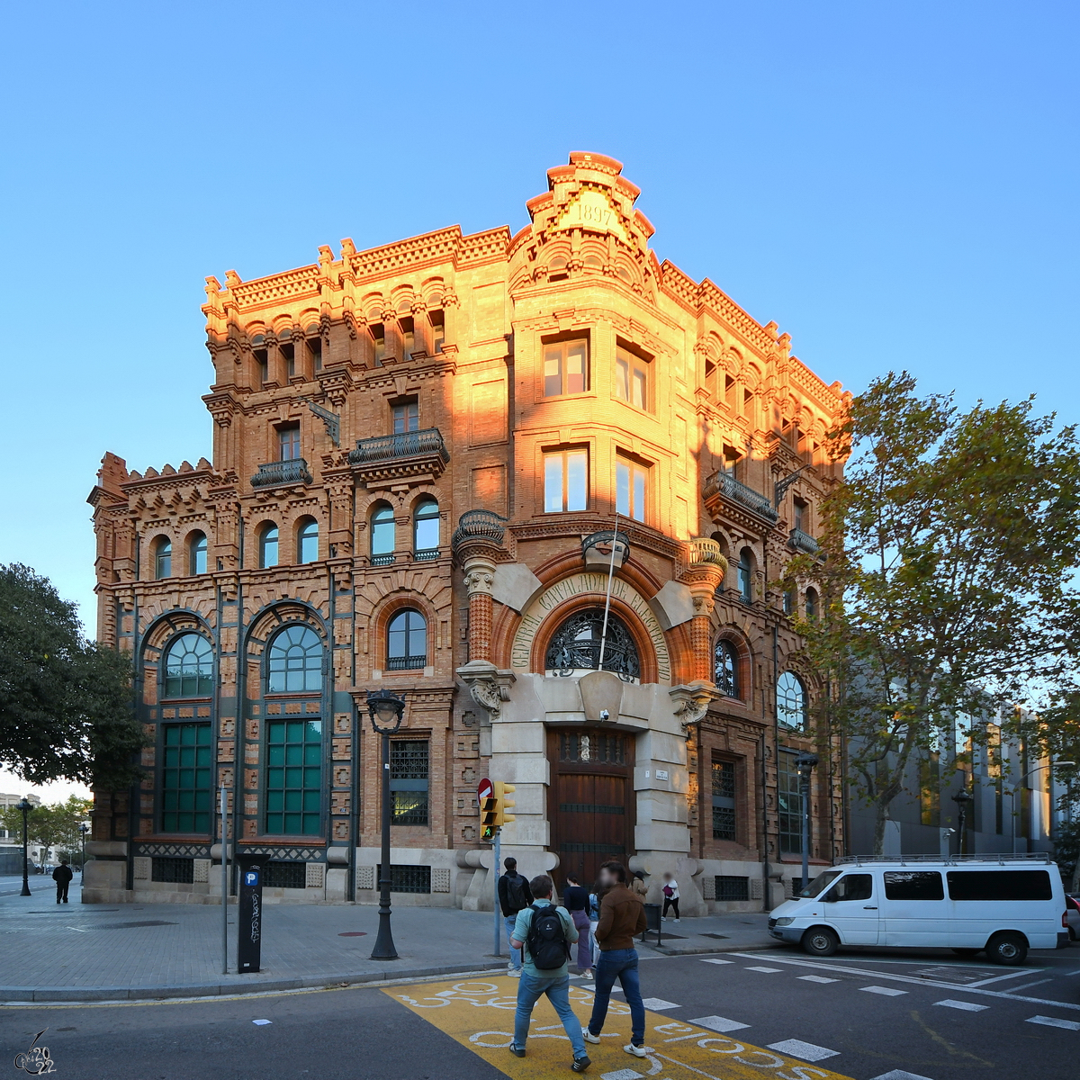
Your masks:
<path fill-rule="evenodd" d="M 1044 854 L 840 859 L 770 914 L 769 933 L 812 956 L 894 945 L 1008 964 L 1068 945 L 1065 888 Z"/>

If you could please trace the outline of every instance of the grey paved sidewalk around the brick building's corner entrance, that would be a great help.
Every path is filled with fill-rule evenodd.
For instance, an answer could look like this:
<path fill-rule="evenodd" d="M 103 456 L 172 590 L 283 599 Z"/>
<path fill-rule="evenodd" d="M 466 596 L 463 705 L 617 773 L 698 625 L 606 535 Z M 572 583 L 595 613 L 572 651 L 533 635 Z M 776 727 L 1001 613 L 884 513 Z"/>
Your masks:
<path fill-rule="evenodd" d="M 11 879 L 21 886 L 18 879 Z M 271 904 L 262 915 L 262 970 L 235 974 L 235 906 L 229 907 L 229 969 L 221 974 L 221 908 L 204 904 L 56 904 L 52 881 L 31 879 L 31 896 L 0 879 L 0 1003 L 113 1001 L 289 990 L 341 983 L 497 971 L 494 918 L 486 912 L 400 907 L 396 960 L 372 960 L 374 905 Z M 766 916 L 739 914 L 664 922 L 678 934 L 638 946 L 644 958 L 772 946 Z M 707 936 L 707 935 L 723 936 Z"/>

